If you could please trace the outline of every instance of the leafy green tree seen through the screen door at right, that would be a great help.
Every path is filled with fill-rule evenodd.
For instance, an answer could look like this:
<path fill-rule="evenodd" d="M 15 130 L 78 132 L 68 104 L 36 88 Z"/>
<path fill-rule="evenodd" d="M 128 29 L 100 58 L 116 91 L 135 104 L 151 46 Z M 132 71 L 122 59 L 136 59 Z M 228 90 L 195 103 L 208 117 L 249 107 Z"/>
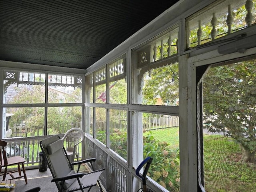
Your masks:
<path fill-rule="evenodd" d="M 203 80 L 205 128 L 227 132 L 255 162 L 256 60 L 211 68 Z"/>

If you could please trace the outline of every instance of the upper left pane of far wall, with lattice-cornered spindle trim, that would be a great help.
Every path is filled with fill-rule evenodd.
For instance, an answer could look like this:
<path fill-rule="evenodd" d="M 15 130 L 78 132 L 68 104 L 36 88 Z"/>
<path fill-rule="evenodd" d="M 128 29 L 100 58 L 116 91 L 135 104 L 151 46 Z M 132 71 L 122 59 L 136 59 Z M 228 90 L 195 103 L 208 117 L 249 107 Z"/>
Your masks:
<path fill-rule="evenodd" d="M 44 103 L 45 74 L 32 72 L 4 72 L 3 103 Z"/>

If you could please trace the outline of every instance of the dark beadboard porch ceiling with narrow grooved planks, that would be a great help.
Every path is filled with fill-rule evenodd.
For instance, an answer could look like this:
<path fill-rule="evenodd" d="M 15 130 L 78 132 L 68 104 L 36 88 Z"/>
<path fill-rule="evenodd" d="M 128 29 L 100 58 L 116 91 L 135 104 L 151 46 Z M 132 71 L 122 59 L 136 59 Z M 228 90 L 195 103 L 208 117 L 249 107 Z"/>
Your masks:
<path fill-rule="evenodd" d="M 178 0 L 1 0 L 0 60 L 86 69 Z"/>

